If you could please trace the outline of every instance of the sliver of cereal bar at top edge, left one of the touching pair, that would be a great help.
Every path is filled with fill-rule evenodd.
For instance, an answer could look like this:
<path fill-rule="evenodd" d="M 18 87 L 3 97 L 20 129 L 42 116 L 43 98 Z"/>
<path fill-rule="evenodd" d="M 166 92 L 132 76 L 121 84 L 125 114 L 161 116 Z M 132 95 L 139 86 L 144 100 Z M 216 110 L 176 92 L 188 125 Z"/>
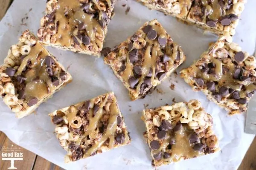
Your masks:
<path fill-rule="evenodd" d="M 189 14 L 192 0 L 138 0 L 150 9 L 162 11 L 181 20 L 185 20 Z"/>

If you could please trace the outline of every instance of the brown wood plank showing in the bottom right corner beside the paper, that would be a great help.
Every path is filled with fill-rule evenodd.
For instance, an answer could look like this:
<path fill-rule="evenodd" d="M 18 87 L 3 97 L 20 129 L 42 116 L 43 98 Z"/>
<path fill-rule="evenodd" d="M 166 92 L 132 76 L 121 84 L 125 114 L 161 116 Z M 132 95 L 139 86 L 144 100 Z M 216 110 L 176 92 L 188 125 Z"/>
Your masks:
<path fill-rule="evenodd" d="M 238 170 L 256 170 L 256 137 L 245 154 Z"/>

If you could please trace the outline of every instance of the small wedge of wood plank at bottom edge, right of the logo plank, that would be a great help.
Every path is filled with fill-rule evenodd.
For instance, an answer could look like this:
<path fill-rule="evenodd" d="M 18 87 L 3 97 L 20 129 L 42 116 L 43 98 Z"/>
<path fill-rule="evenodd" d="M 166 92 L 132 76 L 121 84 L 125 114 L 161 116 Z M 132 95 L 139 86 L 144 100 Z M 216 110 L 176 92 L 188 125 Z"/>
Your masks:
<path fill-rule="evenodd" d="M 33 170 L 64 170 L 64 169 L 47 161 L 41 156 L 37 156 Z"/>

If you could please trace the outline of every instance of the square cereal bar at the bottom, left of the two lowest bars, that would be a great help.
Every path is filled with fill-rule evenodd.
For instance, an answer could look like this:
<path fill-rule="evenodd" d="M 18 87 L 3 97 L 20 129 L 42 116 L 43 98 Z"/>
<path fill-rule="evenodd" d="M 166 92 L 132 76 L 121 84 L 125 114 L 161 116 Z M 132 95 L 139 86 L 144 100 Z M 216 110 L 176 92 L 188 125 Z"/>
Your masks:
<path fill-rule="evenodd" d="M 94 156 L 130 144 L 113 92 L 79 102 L 49 114 L 65 150 L 65 162 Z"/>

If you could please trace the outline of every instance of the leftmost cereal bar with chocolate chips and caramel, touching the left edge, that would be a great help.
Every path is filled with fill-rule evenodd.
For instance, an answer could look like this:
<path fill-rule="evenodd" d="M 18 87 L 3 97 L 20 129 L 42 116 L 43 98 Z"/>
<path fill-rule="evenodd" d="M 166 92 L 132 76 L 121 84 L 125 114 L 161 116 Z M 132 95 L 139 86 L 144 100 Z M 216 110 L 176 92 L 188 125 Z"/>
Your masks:
<path fill-rule="evenodd" d="M 71 75 L 29 30 L 12 45 L 0 65 L 0 95 L 22 118 L 71 82 Z"/>

